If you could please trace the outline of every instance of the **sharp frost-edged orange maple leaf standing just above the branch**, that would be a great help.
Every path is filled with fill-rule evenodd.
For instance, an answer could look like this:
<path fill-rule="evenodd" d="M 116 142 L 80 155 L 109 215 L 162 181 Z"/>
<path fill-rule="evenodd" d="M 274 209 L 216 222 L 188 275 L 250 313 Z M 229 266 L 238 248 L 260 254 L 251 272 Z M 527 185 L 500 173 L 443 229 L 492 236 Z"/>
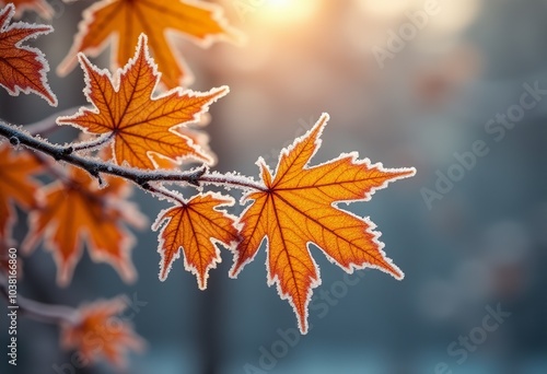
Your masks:
<path fill-rule="evenodd" d="M 72 117 L 59 117 L 57 122 L 91 133 L 110 133 L 118 165 L 155 168 L 154 153 L 177 164 L 189 156 L 211 163 L 213 159 L 177 128 L 198 120 L 209 104 L 228 93 L 228 86 L 207 93 L 173 89 L 153 97 L 159 74 L 147 40 L 141 34 L 135 57 L 118 70 L 116 82 L 106 70 L 96 69 L 80 55 L 86 75 L 85 95 L 95 108 L 81 108 Z"/>

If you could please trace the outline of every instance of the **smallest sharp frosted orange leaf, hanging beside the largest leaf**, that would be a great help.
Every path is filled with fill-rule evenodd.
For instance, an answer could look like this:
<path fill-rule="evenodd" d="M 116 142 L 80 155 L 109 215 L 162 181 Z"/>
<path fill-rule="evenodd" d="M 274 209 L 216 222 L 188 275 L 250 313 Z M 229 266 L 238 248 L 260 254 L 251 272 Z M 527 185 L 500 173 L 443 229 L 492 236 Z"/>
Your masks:
<path fill-rule="evenodd" d="M 171 266 L 184 252 L 184 267 L 198 278 L 200 290 L 207 288 L 209 269 L 221 261 L 216 243 L 232 247 L 238 242 L 238 233 L 234 227 L 235 218 L 217 210 L 219 206 L 232 206 L 233 200 L 211 192 L 198 195 L 184 204 L 163 210 L 152 225 L 154 231 L 160 226 L 160 279 L 165 280 Z"/>

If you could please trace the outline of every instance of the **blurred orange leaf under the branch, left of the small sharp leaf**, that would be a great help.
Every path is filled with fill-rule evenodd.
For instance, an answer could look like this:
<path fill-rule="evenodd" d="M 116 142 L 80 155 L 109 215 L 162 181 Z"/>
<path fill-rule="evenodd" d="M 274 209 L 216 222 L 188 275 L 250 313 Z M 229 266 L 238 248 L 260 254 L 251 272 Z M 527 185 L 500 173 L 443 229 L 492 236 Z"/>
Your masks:
<path fill-rule="evenodd" d="M 125 200 L 125 183 L 107 177 L 100 189 L 84 171 L 71 167 L 67 180 L 57 180 L 38 190 L 38 209 L 30 214 L 23 250 L 32 250 L 44 238 L 58 267 L 57 282 L 67 285 L 82 255 L 85 242 L 94 261 L 110 264 L 130 282 L 136 272 L 129 259 L 132 235 L 124 222 L 142 227 L 146 218 Z"/>

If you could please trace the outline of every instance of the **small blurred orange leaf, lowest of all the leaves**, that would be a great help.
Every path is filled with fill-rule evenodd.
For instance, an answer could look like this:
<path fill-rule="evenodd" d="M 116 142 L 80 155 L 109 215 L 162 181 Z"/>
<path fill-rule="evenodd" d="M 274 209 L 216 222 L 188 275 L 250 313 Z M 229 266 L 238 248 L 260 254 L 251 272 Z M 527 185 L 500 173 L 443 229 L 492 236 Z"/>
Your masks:
<path fill-rule="evenodd" d="M 124 366 L 126 351 L 139 352 L 146 347 L 132 326 L 117 317 L 128 306 L 126 299 L 101 300 L 80 307 L 78 322 L 61 326 L 61 346 L 78 350 L 84 364 L 105 358 L 115 365 Z"/>

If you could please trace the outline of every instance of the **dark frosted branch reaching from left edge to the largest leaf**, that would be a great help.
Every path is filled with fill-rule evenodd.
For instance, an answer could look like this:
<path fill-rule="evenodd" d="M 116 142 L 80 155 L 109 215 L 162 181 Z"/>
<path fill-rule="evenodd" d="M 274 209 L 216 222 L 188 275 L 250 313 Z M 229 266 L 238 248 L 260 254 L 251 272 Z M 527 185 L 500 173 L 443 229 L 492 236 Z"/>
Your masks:
<path fill-rule="evenodd" d="M 146 171 L 136 167 L 119 166 L 96 159 L 84 157 L 77 154 L 72 147 L 60 147 L 57 144 L 51 144 L 46 140 L 33 137 L 21 128 L 8 125 L 3 121 L 0 121 L 0 136 L 9 139 L 10 143 L 14 147 L 24 145 L 34 151 L 47 154 L 54 157 L 56 161 L 65 161 L 69 164 L 81 167 L 90 173 L 90 175 L 97 178 L 100 183 L 102 183 L 101 174 L 104 173 L 131 180 L 144 190 L 150 190 L 148 185 L 148 183 L 150 182 L 181 182 L 194 186 L 208 184 L 223 187 L 236 187 L 241 189 L 266 189 L 263 184 L 256 183 L 248 177 L 231 174 L 209 173 L 207 166 L 205 165 L 190 170 L 188 172 Z"/>

